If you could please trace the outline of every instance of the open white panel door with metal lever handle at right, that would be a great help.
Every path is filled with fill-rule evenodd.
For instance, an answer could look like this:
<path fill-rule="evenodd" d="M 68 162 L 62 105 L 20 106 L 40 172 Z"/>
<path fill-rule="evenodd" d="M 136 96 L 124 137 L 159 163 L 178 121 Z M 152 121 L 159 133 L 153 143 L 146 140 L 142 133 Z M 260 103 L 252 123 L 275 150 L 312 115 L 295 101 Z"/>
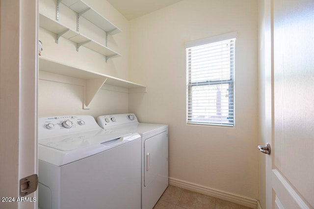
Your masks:
<path fill-rule="evenodd" d="M 267 208 L 314 208 L 314 1 L 272 0 Z M 267 34 L 266 34 L 267 35 Z"/>

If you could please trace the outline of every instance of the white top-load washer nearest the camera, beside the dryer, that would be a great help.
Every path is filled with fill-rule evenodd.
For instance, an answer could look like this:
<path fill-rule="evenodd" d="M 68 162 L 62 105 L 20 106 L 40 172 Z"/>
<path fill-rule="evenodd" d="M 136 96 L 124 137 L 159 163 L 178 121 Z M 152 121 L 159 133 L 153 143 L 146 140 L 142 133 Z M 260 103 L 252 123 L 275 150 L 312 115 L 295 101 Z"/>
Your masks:
<path fill-rule="evenodd" d="M 40 209 L 139 209 L 141 137 L 92 116 L 38 121 Z"/>

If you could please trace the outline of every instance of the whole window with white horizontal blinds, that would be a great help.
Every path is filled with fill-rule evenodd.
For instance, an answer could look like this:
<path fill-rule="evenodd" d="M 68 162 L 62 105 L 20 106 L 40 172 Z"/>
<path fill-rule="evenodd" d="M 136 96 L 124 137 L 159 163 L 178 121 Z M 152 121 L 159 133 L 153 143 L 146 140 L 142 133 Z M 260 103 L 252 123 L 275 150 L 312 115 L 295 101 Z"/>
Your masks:
<path fill-rule="evenodd" d="M 186 44 L 188 124 L 235 125 L 235 36 Z"/>

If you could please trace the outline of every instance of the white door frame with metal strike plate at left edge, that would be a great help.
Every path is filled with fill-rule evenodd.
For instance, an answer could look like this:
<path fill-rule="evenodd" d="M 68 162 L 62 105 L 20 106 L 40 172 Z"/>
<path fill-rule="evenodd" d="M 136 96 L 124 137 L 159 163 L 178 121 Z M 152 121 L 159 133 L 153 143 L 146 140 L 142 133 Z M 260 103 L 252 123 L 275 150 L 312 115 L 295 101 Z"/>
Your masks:
<path fill-rule="evenodd" d="M 36 192 L 18 199 L 20 180 L 37 174 L 37 4 L 0 0 L 1 209 L 37 207 Z"/>

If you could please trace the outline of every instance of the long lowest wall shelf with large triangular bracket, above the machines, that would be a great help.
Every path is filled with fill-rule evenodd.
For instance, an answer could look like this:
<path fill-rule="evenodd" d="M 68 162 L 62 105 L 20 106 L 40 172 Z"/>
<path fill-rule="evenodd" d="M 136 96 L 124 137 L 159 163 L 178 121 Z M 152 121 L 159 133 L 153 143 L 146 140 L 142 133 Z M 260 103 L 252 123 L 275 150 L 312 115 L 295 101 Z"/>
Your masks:
<path fill-rule="evenodd" d="M 50 58 L 39 56 L 39 70 L 85 80 L 83 108 L 89 109 L 89 104 L 97 92 L 105 84 L 127 88 L 129 92 L 146 92 L 146 86 L 128 80 L 115 78 L 101 73 L 80 69 Z"/>

